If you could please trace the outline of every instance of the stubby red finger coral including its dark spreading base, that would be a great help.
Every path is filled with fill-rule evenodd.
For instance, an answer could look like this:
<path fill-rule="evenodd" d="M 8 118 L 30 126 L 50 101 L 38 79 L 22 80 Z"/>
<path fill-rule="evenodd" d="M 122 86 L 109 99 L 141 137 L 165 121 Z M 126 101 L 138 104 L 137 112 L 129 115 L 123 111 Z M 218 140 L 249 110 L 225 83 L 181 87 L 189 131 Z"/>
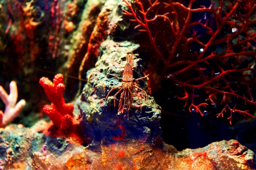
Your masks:
<path fill-rule="evenodd" d="M 49 131 L 53 132 L 54 135 L 65 135 L 71 138 L 72 141 L 83 144 L 85 137 L 81 134 L 80 121 L 73 117 L 74 106 L 72 103 L 66 103 L 63 97 L 65 90 L 63 75 L 56 74 L 53 82 L 47 77 L 42 77 L 39 83 L 43 86 L 45 94 L 52 102 L 51 105 L 47 104 L 43 107 L 43 111 L 54 124 Z"/>

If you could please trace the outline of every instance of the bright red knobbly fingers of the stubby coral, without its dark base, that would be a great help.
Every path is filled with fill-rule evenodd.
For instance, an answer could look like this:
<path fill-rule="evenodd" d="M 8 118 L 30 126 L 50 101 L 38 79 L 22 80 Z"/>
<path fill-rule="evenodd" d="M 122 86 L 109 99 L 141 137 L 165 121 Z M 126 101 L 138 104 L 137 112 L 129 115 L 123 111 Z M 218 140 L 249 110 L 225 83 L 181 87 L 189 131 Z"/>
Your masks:
<path fill-rule="evenodd" d="M 47 77 L 42 77 L 39 83 L 43 86 L 45 94 L 52 102 L 51 105 L 45 105 L 43 111 L 49 116 L 57 128 L 67 130 L 73 124 L 72 115 L 74 106 L 72 103 L 65 103 L 63 98 L 63 92 L 65 90 L 63 75 L 55 75 L 53 83 Z"/>

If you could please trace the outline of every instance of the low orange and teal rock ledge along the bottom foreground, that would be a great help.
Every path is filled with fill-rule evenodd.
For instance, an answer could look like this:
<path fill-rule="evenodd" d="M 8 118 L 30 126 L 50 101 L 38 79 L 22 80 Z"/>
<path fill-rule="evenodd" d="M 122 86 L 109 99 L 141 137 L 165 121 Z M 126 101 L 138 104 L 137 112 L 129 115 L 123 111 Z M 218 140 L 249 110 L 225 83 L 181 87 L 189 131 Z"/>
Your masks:
<path fill-rule="evenodd" d="M 100 152 L 31 128 L 0 129 L 0 169 L 8 170 L 255 170 L 255 154 L 236 140 L 213 142 L 204 148 L 177 151 L 130 141 L 101 144 Z"/>

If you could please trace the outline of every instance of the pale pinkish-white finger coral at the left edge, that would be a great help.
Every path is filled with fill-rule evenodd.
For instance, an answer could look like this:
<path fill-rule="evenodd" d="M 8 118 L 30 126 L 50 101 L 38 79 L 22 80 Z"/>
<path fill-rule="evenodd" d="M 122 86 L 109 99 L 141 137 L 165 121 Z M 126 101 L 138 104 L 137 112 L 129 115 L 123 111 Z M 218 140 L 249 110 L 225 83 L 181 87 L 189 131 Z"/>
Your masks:
<path fill-rule="evenodd" d="M 22 108 L 25 106 L 26 101 L 21 99 L 17 104 L 18 89 L 15 81 L 10 83 L 10 94 L 8 95 L 4 88 L 0 86 L 0 97 L 5 104 L 4 113 L 0 110 L 0 128 L 5 127 L 10 121 L 12 121 Z"/>

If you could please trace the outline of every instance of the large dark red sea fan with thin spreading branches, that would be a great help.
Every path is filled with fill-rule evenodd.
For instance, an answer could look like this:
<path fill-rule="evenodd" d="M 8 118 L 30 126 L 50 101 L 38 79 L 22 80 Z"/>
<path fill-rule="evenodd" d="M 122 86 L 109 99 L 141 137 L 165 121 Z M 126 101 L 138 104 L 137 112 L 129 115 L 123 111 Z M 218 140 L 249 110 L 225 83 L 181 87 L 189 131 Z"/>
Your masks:
<path fill-rule="evenodd" d="M 170 79 L 180 86 L 183 96 L 177 97 L 186 101 L 184 106 L 189 105 L 190 112 L 204 115 L 202 107 L 211 104 L 223 108 L 217 117 L 230 111 L 230 124 L 233 113 L 254 117 L 232 101 L 256 106 L 256 4 L 234 0 L 227 5 L 220 0 L 216 4 L 209 1 L 206 7 L 205 2 L 195 0 L 188 4 L 135 0 L 135 6 L 123 1 L 129 8 L 123 14 L 131 15 L 131 21 L 138 23 L 135 29 L 146 32 L 149 48 L 155 53 L 150 60 L 151 64 L 157 63 L 157 68 L 148 69 L 150 79 L 155 81 L 156 70 L 159 81 Z M 198 89 L 207 96 L 205 102 L 195 102 Z"/>

